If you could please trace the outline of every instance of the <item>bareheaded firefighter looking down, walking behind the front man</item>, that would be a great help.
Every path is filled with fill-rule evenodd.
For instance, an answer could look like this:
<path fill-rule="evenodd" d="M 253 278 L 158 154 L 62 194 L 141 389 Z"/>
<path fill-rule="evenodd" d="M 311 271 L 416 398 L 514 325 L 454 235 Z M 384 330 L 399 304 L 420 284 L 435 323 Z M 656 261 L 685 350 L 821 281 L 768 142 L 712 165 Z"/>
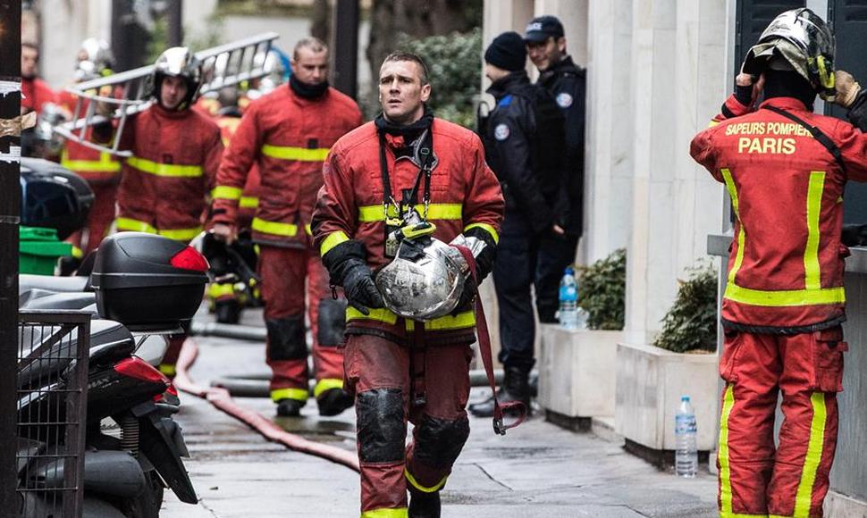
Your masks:
<path fill-rule="evenodd" d="M 266 358 L 274 373 L 271 397 L 277 414 L 296 416 L 307 403 L 304 306 L 313 335 L 314 396 L 319 414 L 352 405 L 343 390 L 344 303 L 332 298 L 322 261 L 310 236 L 310 215 L 322 186 L 329 148 L 361 124 L 358 105 L 328 86 L 328 49 L 316 38 L 295 47 L 290 84 L 258 98 L 231 138 L 214 191 L 214 233 L 229 242 L 248 171 L 257 164 L 261 196 L 251 223 L 259 245 L 267 328 Z M 307 281 L 307 290 L 304 289 Z"/>

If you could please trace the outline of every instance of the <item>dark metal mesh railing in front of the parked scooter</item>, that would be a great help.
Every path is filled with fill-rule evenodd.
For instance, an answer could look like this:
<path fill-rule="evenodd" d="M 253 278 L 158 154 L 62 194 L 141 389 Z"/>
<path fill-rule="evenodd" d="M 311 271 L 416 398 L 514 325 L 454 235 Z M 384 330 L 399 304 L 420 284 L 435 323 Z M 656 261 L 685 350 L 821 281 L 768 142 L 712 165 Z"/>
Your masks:
<path fill-rule="evenodd" d="M 22 518 L 77 518 L 84 499 L 90 314 L 18 317 L 18 493 Z"/>

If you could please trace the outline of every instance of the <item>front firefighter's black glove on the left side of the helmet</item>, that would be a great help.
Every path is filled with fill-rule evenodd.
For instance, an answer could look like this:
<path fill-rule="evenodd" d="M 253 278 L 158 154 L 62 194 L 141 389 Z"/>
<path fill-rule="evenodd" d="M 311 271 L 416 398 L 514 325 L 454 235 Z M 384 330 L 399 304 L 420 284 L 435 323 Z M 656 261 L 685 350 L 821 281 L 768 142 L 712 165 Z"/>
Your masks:
<path fill-rule="evenodd" d="M 374 283 L 373 272 L 367 266 L 365 246 L 349 240 L 334 246 L 322 258 L 333 285 L 343 287 L 346 301 L 364 314 L 369 308 L 384 307 L 383 296 Z"/>

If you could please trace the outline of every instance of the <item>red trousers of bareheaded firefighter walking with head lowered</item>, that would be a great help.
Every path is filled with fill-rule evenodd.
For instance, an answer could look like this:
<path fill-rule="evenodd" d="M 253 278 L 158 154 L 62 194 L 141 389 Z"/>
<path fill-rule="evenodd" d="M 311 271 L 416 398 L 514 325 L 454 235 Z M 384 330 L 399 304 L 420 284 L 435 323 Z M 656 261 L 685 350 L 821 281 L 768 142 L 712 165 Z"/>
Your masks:
<path fill-rule="evenodd" d="M 273 372 L 271 397 L 307 400 L 307 316 L 313 335 L 313 362 L 318 397 L 343 385 L 343 314 L 345 305 L 332 298 L 328 272 L 317 251 L 261 246 L 258 261 L 268 330 L 266 358 Z M 305 290 L 305 284 L 307 289 Z"/>

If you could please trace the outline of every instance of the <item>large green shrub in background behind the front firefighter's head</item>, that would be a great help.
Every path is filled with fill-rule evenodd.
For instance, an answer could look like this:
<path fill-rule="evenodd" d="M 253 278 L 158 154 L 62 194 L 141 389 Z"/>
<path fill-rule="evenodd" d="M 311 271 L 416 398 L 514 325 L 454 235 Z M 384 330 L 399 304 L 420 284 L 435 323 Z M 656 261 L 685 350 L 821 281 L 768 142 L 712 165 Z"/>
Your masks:
<path fill-rule="evenodd" d="M 428 105 L 434 114 L 472 129 L 482 85 L 482 30 L 419 39 L 405 35 L 400 48 L 425 58 L 433 91 Z"/>

